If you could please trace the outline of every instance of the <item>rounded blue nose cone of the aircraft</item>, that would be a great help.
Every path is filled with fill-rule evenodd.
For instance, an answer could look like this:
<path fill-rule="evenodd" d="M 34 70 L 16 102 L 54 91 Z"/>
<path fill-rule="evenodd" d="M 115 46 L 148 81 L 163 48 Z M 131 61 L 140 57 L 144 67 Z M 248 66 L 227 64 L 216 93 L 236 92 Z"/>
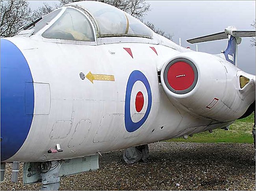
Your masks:
<path fill-rule="evenodd" d="M 20 49 L 1 38 L 1 161 L 19 151 L 33 119 L 32 74 Z"/>

